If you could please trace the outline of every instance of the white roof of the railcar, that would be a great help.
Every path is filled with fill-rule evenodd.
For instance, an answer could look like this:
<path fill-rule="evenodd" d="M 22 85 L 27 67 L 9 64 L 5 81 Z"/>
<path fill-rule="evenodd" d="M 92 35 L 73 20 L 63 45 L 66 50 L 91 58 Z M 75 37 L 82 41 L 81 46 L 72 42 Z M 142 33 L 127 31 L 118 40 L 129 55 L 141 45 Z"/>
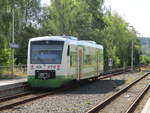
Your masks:
<path fill-rule="evenodd" d="M 96 44 L 96 42 L 91 40 L 78 40 L 76 37 L 73 36 L 43 36 L 43 37 L 35 37 L 31 38 L 29 41 L 40 41 L 40 40 L 57 40 L 57 41 L 64 41 L 74 45 L 83 45 L 83 46 L 90 46 L 103 49 L 103 46 L 100 44 Z"/>

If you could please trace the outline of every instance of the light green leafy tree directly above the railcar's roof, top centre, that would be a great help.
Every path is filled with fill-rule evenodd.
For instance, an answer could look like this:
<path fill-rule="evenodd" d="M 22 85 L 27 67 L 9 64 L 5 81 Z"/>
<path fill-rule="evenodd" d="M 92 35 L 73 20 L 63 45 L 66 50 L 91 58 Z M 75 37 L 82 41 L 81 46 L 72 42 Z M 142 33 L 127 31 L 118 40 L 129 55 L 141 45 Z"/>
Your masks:
<path fill-rule="evenodd" d="M 45 8 L 45 20 L 42 23 L 42 29 L 46 34 L 51 35 L 74 35 L 80 39 L 96 39 L 93 35 L 96 28 L 99 31 L 102 22 L 102 12 L 99 10 L 102 6 L 97 0 L 97 8 L 92 1 L 87 0 L 53 0 L 52 4 Z M 94 3 L 94 4 L 93 4 Z M 95 12 L 98 14 L 95 15 Z M 96 20 L 97 19 L 97 20 Z M 97 27 L 95 27 L 97 22 Z M 85 33 L 86 32 L 86 33 Z"/>

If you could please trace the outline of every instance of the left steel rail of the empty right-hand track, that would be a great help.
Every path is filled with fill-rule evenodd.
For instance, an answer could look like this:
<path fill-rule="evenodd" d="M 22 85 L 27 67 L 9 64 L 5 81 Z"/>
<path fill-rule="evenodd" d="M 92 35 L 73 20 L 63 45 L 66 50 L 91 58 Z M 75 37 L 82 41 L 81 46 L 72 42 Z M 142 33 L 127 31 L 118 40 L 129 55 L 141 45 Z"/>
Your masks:
<path fill-rule="evenodd" d="M 150 72 L 146 73 L 144 76 L 142 76 L 139 79 L 135 80 L 134 82 L 130 83 L 127 87 L 123 88 L 119 92 L 117 92 L 114 95 L 110 96 L 109 98 L 107 98 L 103 102 L 97 104 L 96 106 L 94 106 L 93 108 L 91 108 L 86 113 L 97 113 L 97 112 L 99 112 L 101 109 L 103 109 L 105 106 L 107 106 L 111 101 L 113 101 L 114 99 L 116 99 L 119 95 L 121 95 L 122 93 L 124 93 L 126 90 L 128 90 L 129 88 L 131 88 L 133 85 L 135 85 L 137 82 L 139 82 L 140 80 L 142 80 L 143 78 L 145 78 L 149 74 L 150 74 Z"/>

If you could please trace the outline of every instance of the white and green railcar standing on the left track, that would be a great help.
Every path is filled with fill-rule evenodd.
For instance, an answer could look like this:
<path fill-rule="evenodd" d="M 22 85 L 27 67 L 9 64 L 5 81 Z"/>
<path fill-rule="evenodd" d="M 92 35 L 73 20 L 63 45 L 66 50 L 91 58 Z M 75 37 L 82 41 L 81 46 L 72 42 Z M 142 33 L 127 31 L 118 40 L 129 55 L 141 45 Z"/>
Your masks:
<path fill-rule="evenodd" d="M 32 38 L 27 63 L 32 87 L 57 88 L 71 80 L 99 76 L 103 72 L 103 46 L 72 36 Z"/>

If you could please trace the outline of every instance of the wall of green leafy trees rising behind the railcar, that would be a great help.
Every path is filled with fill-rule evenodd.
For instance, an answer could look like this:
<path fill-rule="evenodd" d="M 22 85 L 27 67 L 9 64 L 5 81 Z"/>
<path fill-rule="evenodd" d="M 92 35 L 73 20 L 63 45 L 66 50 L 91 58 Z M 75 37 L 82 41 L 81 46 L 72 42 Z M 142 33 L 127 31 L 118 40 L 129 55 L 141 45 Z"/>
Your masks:
<path fill-rule="evenodd" d="M 105 69 L 109 68 L 108 58 L 113 59 L 114 68 L 130 65 L 133 41 L 134 64 L 138 64 L 140 43 L 136 32 L 103 6 L 104 0 L 51 0 L 46 7 L 41 7 L 40 0 L 0 0 L 0 65 L 10 63 L 13 9 L 15 42 L 20 45 L 16 64 L 26 63 L 28 39 L 45 35 L 73 35 L 102 44 Z"/>

